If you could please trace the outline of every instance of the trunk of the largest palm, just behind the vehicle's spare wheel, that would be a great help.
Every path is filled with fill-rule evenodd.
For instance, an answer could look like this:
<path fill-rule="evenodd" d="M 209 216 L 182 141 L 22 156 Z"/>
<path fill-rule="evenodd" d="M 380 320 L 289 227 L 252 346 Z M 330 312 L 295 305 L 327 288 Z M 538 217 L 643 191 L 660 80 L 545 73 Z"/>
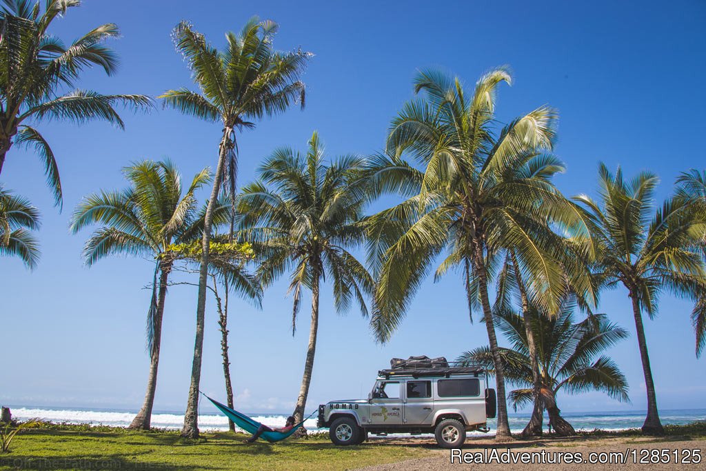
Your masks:
<path fill-rule="evenodd" d="M 495 439 L 496 441 L 509 441 L 513 439 L 513 436 L 510 434 L 510 424 L 508 423 L 508 403 L 505 399 L 505 374 L 503 374 L 503 363 L 498 350 L 498 338 L 495 335 L 493 313 L 488 298 L 488 279 L 486 278 L 483 251 L 480 246 L 477 246 L 475 252 L 474 265 L 476 266 L 476 270 L 478 270 L 483 317 L 485 319 L 486 329 L 488 330 L 488 340 L 490 341 L 490 350 L 493 354 L 493 364 L 495 365 L 496 392 L 498 397 L 498 427 Z"/>

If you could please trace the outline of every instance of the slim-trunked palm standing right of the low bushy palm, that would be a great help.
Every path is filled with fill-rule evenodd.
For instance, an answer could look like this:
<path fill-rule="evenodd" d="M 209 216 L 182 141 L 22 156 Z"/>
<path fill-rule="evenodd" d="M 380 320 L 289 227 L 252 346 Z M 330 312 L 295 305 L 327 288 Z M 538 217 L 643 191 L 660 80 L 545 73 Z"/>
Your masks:
<path fill-rule="evenodd" d="M 584 195 L 576 198 L 597 221 L 594 238 L 600 247 L 598 275 L 608 287 L 618 283 L 625 286 L 633 304 L 647 390 L 647 417 L 642 425 L 645 434 L 663 434 L 664 429 L 657 412 L 642 311 L 653 318 L 659 294 L 667 291 L 697 302 L 697 315 L 703 309 L 698 299 L 706 290 L 706 268 L 698 240 L 693 237 L 689 205 L 672 198 L 652 213 L 657 183 L 657 176 L 650 172 L 640 172 L 626 181 L 619 167 L 613 175 L 600 164 L 599 203 Z"/>

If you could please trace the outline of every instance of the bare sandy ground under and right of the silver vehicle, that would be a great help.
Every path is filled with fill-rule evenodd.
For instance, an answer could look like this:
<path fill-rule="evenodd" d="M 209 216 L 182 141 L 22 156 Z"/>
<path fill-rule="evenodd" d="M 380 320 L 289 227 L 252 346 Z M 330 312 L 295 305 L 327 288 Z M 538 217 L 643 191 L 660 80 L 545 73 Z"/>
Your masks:
<path fill-rule="evenodd" d="M 375 443 L 383 439 L 373 438 L 371 442 Z M 623 469 L 643 469 L 644 467 L 649 467 L 651 470 L 706 470 L 706 440 L 705 439 L 684 439 L 684 437 L 590 437 L 581 436 L 571 439 L 559 439 L 559 438 L 547 438 L 539 440 L 517 440 L 511 443 L 496 444 L 491 439 L 478 439 L 467 441 L 462 448 L 462 452 L 478 453 L 483 452 L 488 449 L 489 451 L 496 448 L 498 453 L 505 453 L 510 451 L 514 455 L 519 453 L 541 453 L 543 450 L 549 453 L 581 453 L 582 458 L 586 461 L 589 459 L 591 453 L 626 453 L 626 459 L 624 463 L 561 463 L 561 464 L 523 464 L 523 463 L 484 463 L 484 464 L 464 464 L 459 463 L 459 460 L 455 460 L 455 463 L 450 463 L 450 451 L 439 450 L 434 447 L 434 443 L 427 439 L 412 439 L 412 440 L 399 440 L 390 439 L 385 440 L 386 442 L 392 444 L 400 444 L 405 446 L 419 446 L 422 448 L 429 448 L 429 453 L 431 456 L 426 458 L 415 458 L 412 460 L 405 460 L 399 463 L 390 463 L 386 465 L 374 465 L 368 467 L 358 468 L 359 470 L 365 471 L 393 471 L 404 469 L 406 471 L 436 471 L 436 470 L 448 470 L 448 469 L 478 469 L 483 467 L 484 470 L 489 471 L 519 471 L 526 470 L 528 467 L 534 469 L 542 470 L 623 470 Z M 414 443 L 412 443 L 414 441 Z M 642 450 L 652 451 L 658 450 L 662 453 L 662 450 L 668 450 L 669 453 L 664 455 L 662 460 L 666 461 L 669 459 L 669 463 L 639 463 L 640 458 L 645 457 L 645 452 Z M 636 451 L 636 456 L 638 458 L 638 463 L 633 460 L 633 450 Z M 677 450 L 676 457 L 678 457 L 678 463 L 676 463 L 676 458 L 674 451 Z M 697 451 L 698 450 L 698 451 Z M 657 452 L 654 452 L 657 453 Z M 694 453 L 698 455 L 694 457 Z M 606 455 L 595 455 L 596 458 L 605 458 Z M 684 463 L 683 457 L 692 457 L 690 461 L 692 463 Z M 647 455 L 649 460 L 649 455 Z M 699 463 L 695 463 L 698 462 Z"/>

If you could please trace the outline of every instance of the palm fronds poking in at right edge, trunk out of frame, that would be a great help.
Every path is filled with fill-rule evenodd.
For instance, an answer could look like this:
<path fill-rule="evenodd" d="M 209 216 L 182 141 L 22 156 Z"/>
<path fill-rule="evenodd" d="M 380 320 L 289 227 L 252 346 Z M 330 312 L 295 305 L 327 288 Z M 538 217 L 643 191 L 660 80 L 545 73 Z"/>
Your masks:
<path fill-rule="evenodd" d="M 691 169 L 682 172 L 676 179 L 676 198 L 690 208 L 693 214 L 693 236 L 701 241 L 701 250 L 706 258 L 706 171 Z M 700 357 L 706 347 L 706 291 L 699 297 L 691 321 L 696 332 L 696 356 Z"/>

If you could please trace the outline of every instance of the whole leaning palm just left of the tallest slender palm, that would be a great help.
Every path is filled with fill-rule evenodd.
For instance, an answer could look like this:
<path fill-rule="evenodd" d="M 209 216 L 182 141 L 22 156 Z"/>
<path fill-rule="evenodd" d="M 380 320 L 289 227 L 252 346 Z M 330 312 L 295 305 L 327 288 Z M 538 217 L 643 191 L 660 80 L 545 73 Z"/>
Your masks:
<path fill-rule="evenodd" d="M 176 259 L 172 244 L 191 242 L 201 235 L 203 214 L 199 217 L 196 211 L 195 193 L 210 180 L 210 175 L 208 169 L 203 169 L 182 194 L 181 175 L 169 160 L 138 162 L 126 167 L 124 174 L 130 184 L 128 189 L 92 194 L 77 205 L 71 231 L 75 234 L 88 225 L 101 226 L 91 234 L 83 249 L 88 266 L 114 254 L 155 258 L 147 317 L 150 373 L 143 406 L 130 425 L 131 429 L 146 430 L 150 429 L 157 387 L 164 299 Z M 222 206 L 220 222 L 227 220 L 226 214 L 227 208 Z"/>

